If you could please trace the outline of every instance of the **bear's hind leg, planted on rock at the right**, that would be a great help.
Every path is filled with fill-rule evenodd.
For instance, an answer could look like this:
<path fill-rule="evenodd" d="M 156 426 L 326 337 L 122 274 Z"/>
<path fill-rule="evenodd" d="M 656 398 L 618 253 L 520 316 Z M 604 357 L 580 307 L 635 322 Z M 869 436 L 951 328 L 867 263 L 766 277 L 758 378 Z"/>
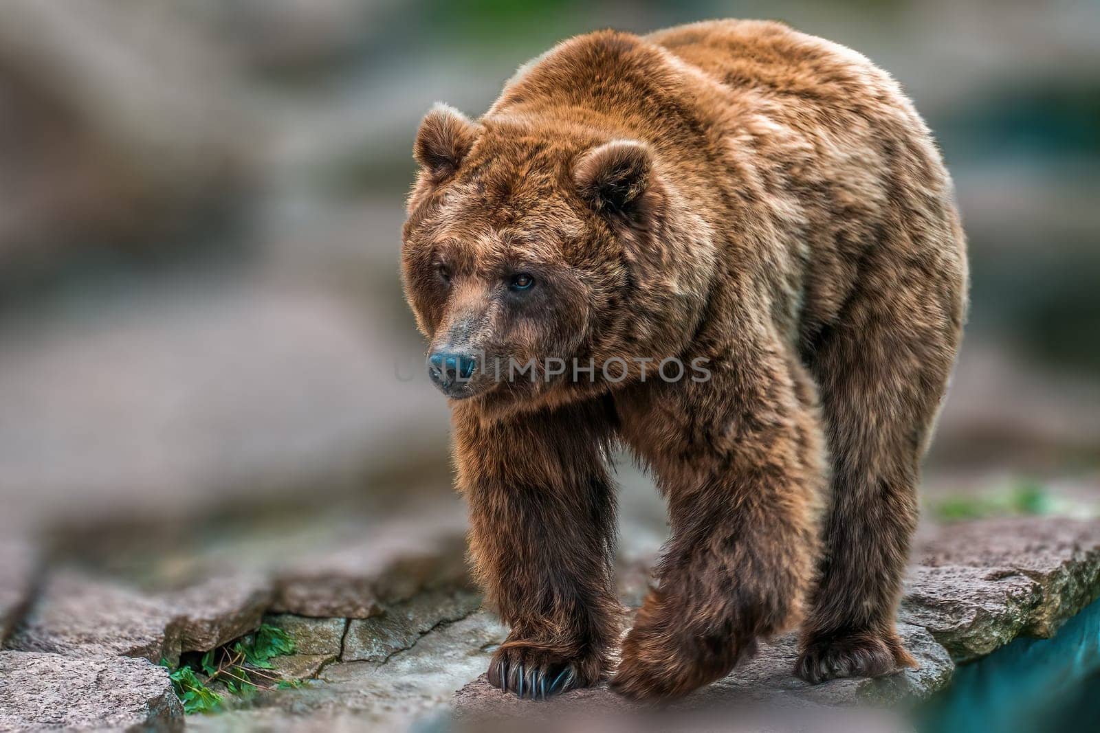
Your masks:
<path fill-rule="evenodd" d="M 894 614 L 919 465 L 958 346 L 963 275 L 876 271 L 810 357 L 833 456 L 826 547 L 795 666 L 811 682 L 916 666 Z"/>

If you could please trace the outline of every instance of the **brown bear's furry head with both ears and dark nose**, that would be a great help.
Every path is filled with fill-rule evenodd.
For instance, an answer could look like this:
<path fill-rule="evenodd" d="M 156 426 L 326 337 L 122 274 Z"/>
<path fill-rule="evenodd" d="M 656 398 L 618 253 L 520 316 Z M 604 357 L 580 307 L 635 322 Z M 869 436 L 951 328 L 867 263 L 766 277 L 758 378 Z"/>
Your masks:
<path fill-rule="evenodd" d="M 437 105 L 402 251 L 432 380 L 505 409 L 568 400 L 680 354 L 713 274 L 711 229 L 652 148 Z"/>

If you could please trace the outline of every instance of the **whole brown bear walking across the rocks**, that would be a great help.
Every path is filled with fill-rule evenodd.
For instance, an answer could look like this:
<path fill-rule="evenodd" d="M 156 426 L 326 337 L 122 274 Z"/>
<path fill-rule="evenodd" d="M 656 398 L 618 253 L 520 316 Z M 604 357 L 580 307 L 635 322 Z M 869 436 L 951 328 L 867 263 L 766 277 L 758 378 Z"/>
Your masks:
<path fill-rule="evenodd" d="M 890 76 L 773 22 L 601 31 L 477 121 L 437 107 L 414 154 L 406 295 L 510 626 L 490 681 L 609 671 L 618 445 L 671 538 L 614 689 L 684 695 L 799 622 L 806 680 L 913 666 L 894 613 L 967 263 Z"/>

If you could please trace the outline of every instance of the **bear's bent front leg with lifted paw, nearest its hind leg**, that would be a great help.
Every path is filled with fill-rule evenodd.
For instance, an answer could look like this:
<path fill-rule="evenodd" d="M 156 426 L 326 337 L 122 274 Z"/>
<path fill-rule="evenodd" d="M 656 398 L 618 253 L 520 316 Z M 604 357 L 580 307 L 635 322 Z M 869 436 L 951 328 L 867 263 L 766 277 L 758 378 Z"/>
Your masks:
<path fill-rule="evenodd" d="M 628 397 L 623 430 L 668 493 L 672 529 L 612 682 L 630 698 L 724 677 L 796 623 L 813 579 L 825 486 L 815 390 L 793 360 L 737 356 L 708 381 Z"/>

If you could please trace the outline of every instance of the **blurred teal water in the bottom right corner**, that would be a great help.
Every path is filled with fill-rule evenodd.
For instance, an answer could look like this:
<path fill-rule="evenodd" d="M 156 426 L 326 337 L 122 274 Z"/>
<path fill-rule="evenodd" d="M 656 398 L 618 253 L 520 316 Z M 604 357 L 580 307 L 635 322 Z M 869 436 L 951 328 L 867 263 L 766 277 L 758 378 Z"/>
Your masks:
<path fill-rule="evenodd" d="M 1052 638 L 1018 638 L 961 665 L 920 711 L 922 733 L 1100 731 L 1100 601 Z"/>

